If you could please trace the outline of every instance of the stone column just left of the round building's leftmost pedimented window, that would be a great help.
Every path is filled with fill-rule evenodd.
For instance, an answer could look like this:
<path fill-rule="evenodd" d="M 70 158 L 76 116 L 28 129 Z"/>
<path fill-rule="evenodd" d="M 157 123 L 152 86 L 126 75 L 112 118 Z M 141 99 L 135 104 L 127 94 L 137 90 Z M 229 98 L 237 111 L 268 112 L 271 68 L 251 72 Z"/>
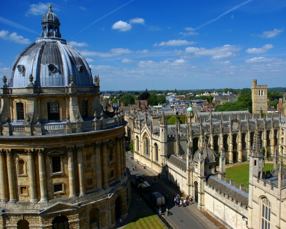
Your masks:
<path fill-rule="evenodd" d="M 40 187 L 40 201 L 46 202 L 46 183 L 45 183 L 45 170 L 44 170 L 44 157 L 43 157 L 43 149 L 36 149 L 38 154 L 38 172 L 39 172 L 39 187 Z"/>

